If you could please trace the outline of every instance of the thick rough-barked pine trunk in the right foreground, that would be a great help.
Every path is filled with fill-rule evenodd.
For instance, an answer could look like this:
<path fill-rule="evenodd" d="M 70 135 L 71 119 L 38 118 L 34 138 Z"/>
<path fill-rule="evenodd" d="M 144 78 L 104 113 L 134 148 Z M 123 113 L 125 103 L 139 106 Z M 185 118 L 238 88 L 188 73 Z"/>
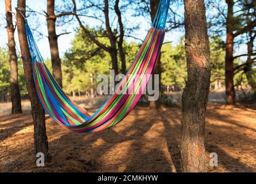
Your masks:
<path fill-rule="evenodd" d="M 185 0 L 184 7 L 188 79 L 182 95 L 181 165 L 184 172 L 205 172 L 205 113 L 210 87 L 205 3 Z"/>

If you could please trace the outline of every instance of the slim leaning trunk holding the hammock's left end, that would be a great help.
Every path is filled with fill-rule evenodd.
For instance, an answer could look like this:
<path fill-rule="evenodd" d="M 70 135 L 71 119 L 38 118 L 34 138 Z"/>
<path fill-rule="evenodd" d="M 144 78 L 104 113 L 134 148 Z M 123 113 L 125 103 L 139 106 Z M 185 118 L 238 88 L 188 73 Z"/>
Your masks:
<path fill-rule="evenodd" d="M 50 161 L 48 153 L 48 140 L 46 136 L 44 109 L 40 104 L 38 94 L 36 94 L 35 83 L 33 79 L 31 55 L 29 52 L 27 34 L 25 28 L 25 20 L 21 13 L 25 16 L 25 0 L 19 0 L 17 3 L 17 28 L 18 40 L 20 41 L 21 58 L 23 59 L 23 67 L 25 73 L 25 81 L 28 89 L 28 95 L 31 102 L 31 112 L 34 123 L 34 145 L 35 154 L 42 152 L 45 162 Z"/>

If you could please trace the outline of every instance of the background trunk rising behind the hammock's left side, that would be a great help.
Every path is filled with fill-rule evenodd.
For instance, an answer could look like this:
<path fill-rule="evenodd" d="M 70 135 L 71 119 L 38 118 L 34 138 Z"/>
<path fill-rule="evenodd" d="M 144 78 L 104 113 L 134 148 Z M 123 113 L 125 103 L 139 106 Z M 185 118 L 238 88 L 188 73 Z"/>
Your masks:
<path fill-rule="evenodd" d="M 58 36 L 55 30 L 56 16 L 54 13 L 54 2 L 55 0 L 47 0 L 47 28 L 48 28 L 48 39 L 50 44 L 51 52 L 51 65 L 53 67 L 53 76 L 62 87 L 62 72 L 61 72 L 61 59 L 58 49 Z"/>

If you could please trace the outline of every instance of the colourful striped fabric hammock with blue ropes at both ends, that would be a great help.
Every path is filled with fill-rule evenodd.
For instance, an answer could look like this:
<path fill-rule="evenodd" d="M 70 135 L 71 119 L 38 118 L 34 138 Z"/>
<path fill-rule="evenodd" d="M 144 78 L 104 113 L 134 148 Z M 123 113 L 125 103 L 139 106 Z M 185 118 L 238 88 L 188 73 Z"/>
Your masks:
<path fill-rule="evenodd" d="M 153 27 L 147 33 L 146 39 L 125 75 L 125 80 L 123 79 L 120 83 L 123 88 L 122 93 L 120 94 L 120 89 L 117 88 L 114 94 L 92 116 L 75 104 L 50 74 L 40 55 L 28 22 L 25 20 L 35 87 L 40 102 L 49 116 L 71 131 L 87 133 L 102 131 L 123 120 L 139 101 L 149 81 L 147 75 L 153 73 L 157 63 L 165 36 L 164 28 L 169 2 L 170 0 L 160 0 Z"/>

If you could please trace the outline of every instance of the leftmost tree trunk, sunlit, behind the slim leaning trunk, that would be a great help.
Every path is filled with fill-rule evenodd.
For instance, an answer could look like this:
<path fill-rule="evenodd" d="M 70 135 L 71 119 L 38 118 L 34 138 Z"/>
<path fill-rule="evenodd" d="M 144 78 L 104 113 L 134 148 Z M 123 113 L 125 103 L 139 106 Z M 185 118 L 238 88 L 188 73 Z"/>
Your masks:
<path fill-rule="evenodd" d="M 7 34 L 8 34 L 8 48 L 9 48 L 9 62 L 10 62 L 10 89 L 12 99 L 12 114 L 22 113 L 20 89 L 18 88 L 18 64 L 17 54 L 14 41 L 14 27 L 12 1 L 5 0 L 6 20 L 7 20 Z"/>

